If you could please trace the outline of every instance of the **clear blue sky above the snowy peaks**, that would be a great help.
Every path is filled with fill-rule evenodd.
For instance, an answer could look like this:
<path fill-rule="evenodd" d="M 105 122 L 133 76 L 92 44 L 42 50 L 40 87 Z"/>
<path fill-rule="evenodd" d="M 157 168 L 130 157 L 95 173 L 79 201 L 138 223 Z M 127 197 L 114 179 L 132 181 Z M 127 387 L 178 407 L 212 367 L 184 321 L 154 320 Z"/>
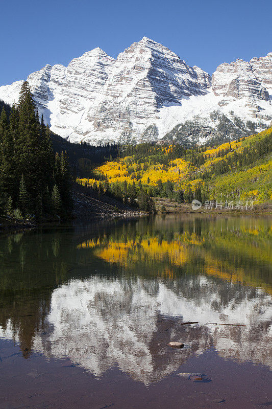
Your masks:
<path fill-rule="evenodd" d="M 95 47 L 116 57 L 143 36 L 212 74 L 222 62 L 272 52 L 271 17 L 271 0 L 7 0 L 0 85 Z"/>

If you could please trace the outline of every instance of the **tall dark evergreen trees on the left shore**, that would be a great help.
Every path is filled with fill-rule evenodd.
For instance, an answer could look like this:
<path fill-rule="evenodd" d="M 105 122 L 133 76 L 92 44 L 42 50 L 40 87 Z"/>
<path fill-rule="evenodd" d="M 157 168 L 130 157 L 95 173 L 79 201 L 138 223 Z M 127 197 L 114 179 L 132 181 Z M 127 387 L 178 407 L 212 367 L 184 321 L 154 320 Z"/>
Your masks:
<path fill-rule="evenodd" d="M 19 103 L 2 103 L 0 116 L 0 214 L 17 219 L 67 215 L 72 207 L 66 153 L 54 155 L 51 132 L 39 120 L 27 81 Z"/>

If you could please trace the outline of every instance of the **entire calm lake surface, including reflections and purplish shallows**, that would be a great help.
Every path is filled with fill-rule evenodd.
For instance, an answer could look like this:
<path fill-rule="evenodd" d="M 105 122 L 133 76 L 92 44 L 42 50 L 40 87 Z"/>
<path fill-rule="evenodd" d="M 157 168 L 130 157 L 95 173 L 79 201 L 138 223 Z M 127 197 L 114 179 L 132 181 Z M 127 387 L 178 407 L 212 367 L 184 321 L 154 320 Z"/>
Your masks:
<path fill-rule="evenodd" d="M 0 409 L 272 407 L 271 243 L 253 216 L 0 236 Z"/>

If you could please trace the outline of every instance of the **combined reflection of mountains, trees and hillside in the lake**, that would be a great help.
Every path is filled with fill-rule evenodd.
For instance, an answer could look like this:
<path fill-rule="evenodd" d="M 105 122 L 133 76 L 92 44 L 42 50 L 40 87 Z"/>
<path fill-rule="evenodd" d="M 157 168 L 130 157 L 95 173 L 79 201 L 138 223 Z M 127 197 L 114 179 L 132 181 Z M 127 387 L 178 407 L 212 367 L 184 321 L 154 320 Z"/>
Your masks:
<path fill-rule="evenodd" d="M 179 215 L 2 236 L 0 337 L 145 383 L 209 348 L 272 368 L 271 232 L 268 218 Z"/>

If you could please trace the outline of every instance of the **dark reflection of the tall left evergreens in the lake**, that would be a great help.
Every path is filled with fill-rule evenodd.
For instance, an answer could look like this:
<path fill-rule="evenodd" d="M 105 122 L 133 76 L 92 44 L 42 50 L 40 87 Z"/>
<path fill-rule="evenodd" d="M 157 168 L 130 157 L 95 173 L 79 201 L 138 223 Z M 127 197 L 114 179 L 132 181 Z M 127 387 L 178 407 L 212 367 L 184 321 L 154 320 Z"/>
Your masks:
<path fill-rule="evenodd" d="M 67 255 L 56 252 L 61 241 L 61 234 L 32 232 L 1 238 L 0 326 L 4 331 L 10 326 L 26 358 L 35 334 L 44 327 L 52 290 L 67 277 Z"/>

